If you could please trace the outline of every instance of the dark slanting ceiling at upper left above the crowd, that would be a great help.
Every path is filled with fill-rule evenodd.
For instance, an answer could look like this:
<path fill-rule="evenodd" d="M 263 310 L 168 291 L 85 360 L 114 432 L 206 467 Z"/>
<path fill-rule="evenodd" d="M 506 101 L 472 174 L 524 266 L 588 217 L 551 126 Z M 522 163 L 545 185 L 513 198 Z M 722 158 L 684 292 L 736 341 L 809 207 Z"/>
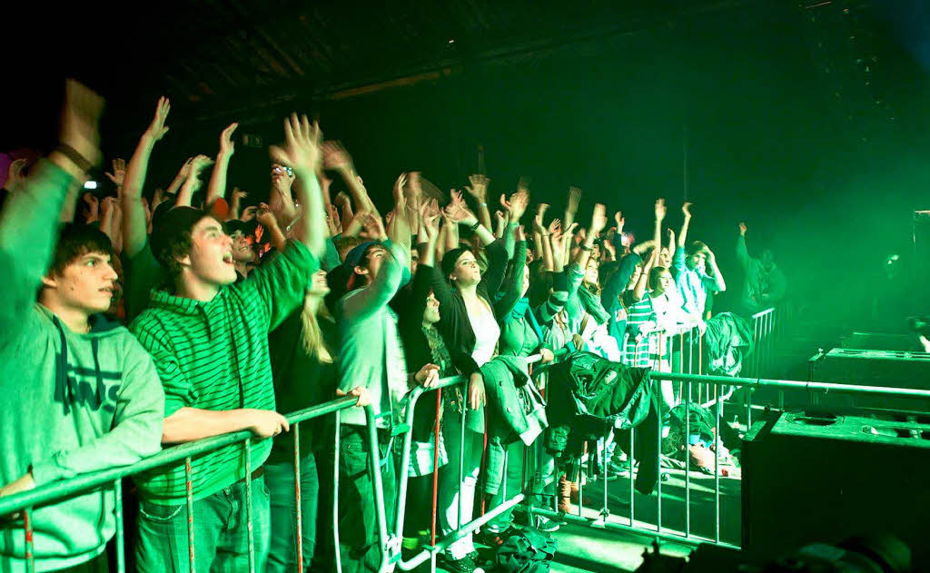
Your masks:
<path fill-rule="evenodd" d="M 22 3 L 5 8 L 5 20 L 18 24 L 5 24 L 4 43 L 12 55 L 8 65 L 25 68 L 17 73 L 23 81 L 16 95 L 27 95 L 28 105 L 40 105 L 63 74 L 73 74 L 107 97 L 111 113 L 113 106 L 135 113 L 168 94 L 183 102 L 176 121 L 184 114 L 201 120 L 234 114 L 247 121 L 289 100 L 352 97 L 475 62 L 506 62 L 767 4 L 198 0 L 115 8 L 80 3 L 53 11 Z"/>

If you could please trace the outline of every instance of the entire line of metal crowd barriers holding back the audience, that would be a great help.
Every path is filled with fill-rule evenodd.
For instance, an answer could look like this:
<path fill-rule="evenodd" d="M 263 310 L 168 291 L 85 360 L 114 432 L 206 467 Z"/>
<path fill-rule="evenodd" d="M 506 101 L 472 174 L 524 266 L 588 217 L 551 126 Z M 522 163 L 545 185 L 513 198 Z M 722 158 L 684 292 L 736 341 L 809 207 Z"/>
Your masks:
<path fill-rule="evenodd" d="M 771 351 L 775 344 L 775 333 L 779 332 L 777 319 L 776 319 L 776 310 L 768 309 L 762 313 L 757 313 L 752 317 L 753 320 L 753 329 L 754 337 L 757 348 L 764 349 L 762 352 L 757 353 L 756 356 L 752 358 L 751 370 L 753 374 L 757 374 L 761 369 L 764 369 L 765 366 L 770 364 L 771 360 Z M 655 342 L 650 341 L 650 339 L 656 340 Z M 676 342 L 677 340 L 677 342 Z M 626 353 L 627 342 L 624 340 L 623 352 Z M 898 394 L 898 395 L 909 395 L 909 396 L 919 396 L 919 397 L 928 397 L 930 398 L 930 392 L 926 391 L 916 391 L 916 390 L 907 390 L 907 389 L 888 389 L 888 388 L 874 388 L 868 386 L 845 386 L 842 384 L 825 384 L 825 383 L 812 383 L 812 382 L 799 382 L 792 380 L 763 380 L 760 378 L 728 378 L 720 376 L 704 376 L 704 360 L 703 360 L 703 341 L 702 337 L 698 336 L 697 327 L 692 327 L 690 329 L 680 330 L 675 333 L 666 333 L 664 331 L 656 331 L 650 333 L 644 340 L 637 344 L 635 347 L 634 355 L 631 357 L 633 361 L 636 361 L 639 357 L 641 346 L 645 348 L 645 352 L 652 353 L 652 345 L 655 344 L 658 347 L 658 353 L 654 356 L 650 356 L 650 360 L 653 368 L 653 383 L 655 384 L 654 391 L 660 392 L 660 381 L 659 380 L 670 380 L 671 382 L 677 382 L 679 384 L 678 392 L 682 400 L 682 403 L 685 405 L 685 420 L 687 419 L 688 410 L 692 405 L 694 391 L 697 390 L 697 403 L 704 407 L 713 407 L 714 411 L 714 420 L 715 420 L 715 431 L 716 439 L 719 440 L 719 431 L 722 415 L 722 404 L 734 389 L 743 388 L 745 392 L 745 406 L 746 406 L 746 418 L 747 418 L 747 427 L 751 425 L 751 391 L 757 387 L 774 387 L 777 388 L 780 392 L 785 390 L 830 390 L 833 392 L 848 392 L 848 393 L 884 393 L 884 394 Z M 677 352 L 675 352 L 677 351 Z M 559 353 L 556 353 L 556 359 L 565 355 L 567 351 L 563 350 Z M 677 360 L 675 358 L 677 357 Z M 541 359 L 537 354 L 529 358 L 530 363 L 536 363 Z M 627 357 L 625 356 L 625 361 Z M 677 364 L 675 364 L 677 362 Z M 669 369 L 676 370 L 675 372 L 667 371 Z M 438 486 L 438 456 L 439 456 L 439 404 L 442 402 L 442 393 L 443 390 L 452 388 L 458 385 L 466 385 L 467 377 L 456 376 L 449 377 L 433 386 L 432 388 L 423 388 L 416 387 L 408 393 L 408 403 L 405 411 L 405 424 L 400 425 L 394 428 L 395 435 L 403 435 L 403 450 L 401 452 L 401 462 L 399 466 L 398 474 L 398 489 L 397 489 L 397 503 L 396 503 L 396 520 L 394 522 L 393 531 L 389 531 L 387 526 L 387 515 L 385 512 L 385 503 L 384 503 L 384 488 L 381 483 L 381 474 L 379 472 L 379 440 L 378 433 L 375 424 L 375 416 L 371 406 L 365 407 L 365 413 L 367 417 L 367 429 L 368 429 L 368 442 L 369 450 L 371 452 L 371 467 L 369 467 L 369 472 L 372 475 L 373 485 L 375 490 L 375 500 L 376 500 L 376 519 L 378 525 L 378 535 L 379 535 L 379 549 L 381 553 L 381 564 L 379 567 L 380 571 L 391 570 L 394 566 L 399 566 L 401 569 L 410 570 L 414 567 L 417 567 L 426 561 L 430 561 L 431 570 L 435 571 L 436 568 L 436 557 L 438 553 L 444 551 L 449 545 L 455 541 L 466 536 L 469 532 L 475 530 L 480 526 L 484 526 L 488 521 L 496 517 L 498 514 L 510 510 L 515 505 L 521 503 L 525 500 L 525 492 L 519 491 L 516 492 L 510 499 L 507 498 L 507 455 L 505 450 L 505 460 L 503 467 L 503 478 L 501 482 L 501 487 L 503 488 L 501 497 L 505 500 L 498 507 L 492 509 L 491 511 L 484 513 L 470 521 L 469 523 L 462 524 L 460 523 L 461 513 L 462 513 L 462 496 L 460 495 L 461 482 L 464 472 L 464 460 L 458 460 L 458 484 L 459 484 L 459 511 L 458 518 L 459 523 L 457 528 L 451 533 L 445 535 L 443 539 L 437 539 L 436 535 L 436 513 L 437 513 L 437 500 L 436 492 Z M 697 388 L 695 388 L 697 387 Z M 435 392 L 436 393 L 436 403 L 437 403 L 437 416 L 434 420 L 434 433 L 433 438 L 434 443 L 434 471 L 432 473 L 433 477 L 433 503 L 432 503 L 432 526 L 431 526 L 431 544 L 429 546 L 421 548 L 419 553 L 416 553 L 414 556 L 408 558 L 406 561 L 402 560 L 400 547 L 401 547 L 401 538 L 404 531 L 404 521 L 405 521 L 405 505 L 406 505 L 406 490 L 407 490 L 407 481 L 408 481 L 408 470 L 410 463 L 410 454 L 412 446 L 412 432 L 413 432 L 413 416 L 414 409 L 419 401 L 420 396 L 424 393 Z M 299 446 L 299 422 L 305 420 L 311 420 L 313 418 L 318 418 L 321 416 L 326 416 L 328 414 L 335 415 L 335 423 L 337 431 L 335 432 L 334 438 L 334 465 L 333 465 L 333 537 L 334 537 L 334 547 L 335 547 L 335 558 L 336 558 L 336 567 L 337 570 L 341 570 L 341 564 L 339 563 L 339 412 L 343 409 L 355 406 L 357 399 L 354 397 L 345 397 L 320 406 L 313 406 L 294 412 L 287 416 L 288 422 L 292 426 L 292 432 L 294 433 L 294 460 L 295 460 L 295 503 L 297 508 L 297 522 L 296 522 L 296 543 L 297 543 L 297 555 L 298 555 L 298 571 L 302 573 L 304 564 L 302 563 L 302 537 L 301 532 L 301 515 L 300 515 L 300 469 L 299 469 L 299 460 L 300 460 L 300 446 Z M 464 406 L 464 405 L 463 405 Z M 466 407 L 462 407 L 462 431 L 458 436 L 460 440 L 459 444 L 463 444 L 465 436 L 465 415 Z M 661 452 L 661 439 L 662 439 L 662 420 L 658 420 L 658 440 L 659 440 L 659 455 Z M 486 424 L 485 424 L 485 448 L 486 448 Z M 88 491 L 100 489 L 100 488 L 112 488 L 113 495 L 115 497 L 115 517 L 116 517 L 116 557 L 117 557 L 117 568 L 119 571 L 125 570 L 126 558 L 125 558 L 125 540 L 123 533 L 123 514 L 122 514 L 122 490 L 121 490 L 121 480 L 124 477 L 135 475 L 137 473 L 148 472 L 156 468 L 173 466 L 177 465 L 179 462 L 185 464 L 185 470 L 187 474 L 187 512 L 188 512 L 188 532 L 189 532 L 189 550 L 190 550 L 190 565 L 191 571 L 194 571 L 194 554 L 195 546 L 193 542 L 193 488 L 191 486 L 191 460 L 194 456 L 203 454 L 209 451 L 219 449 L 223 446 L 229 446 L 232 444 L 241 443 L 243 445 L 243 455 L 245 457 L 246 463 L 246 519 L 248 520 L 248 547 L 249 547 L 249 571 L 254 573 L 255 571 L 255 553 L 254 553 L 254 539 L 252 533 L 252 503 L 251 503 L 251 433 L 247 431 L 237 432 L 237 433 L 227 433 L 219 435 L 212 438 L 207 438 L 206 440 L 200 440 L 197 442 L 192 442 L 189 444 L 183 444 L 180 446 L 173 446 L 159 454 L 154 455 L 151 458 L 146 460 L 141 460 L 140 462 L 119 468 L 113 468 L 109 470 L 104 470 L 97 473 L 87 473 L 80 476 L 77 476 L 73 479 L 64 480 L 57 482 L 55 484 L 50 484 L 47 486 L 42 486 L 35 488 L 31 491 L 20 493 L 14 496 L 9 496 L 7 498 L 0 499 L 0 515 L 7 515 L 9 513 L 22 512 L 22 526 L 23 533 L 26 539 L 26 553 L 27 553 L 27 571 L 32 572 L 34 570 L 33 563 L 33 529 L 32 529 L 32 516 L 33 511 L 37 507 L 41 507 L 59 500 L 64 500 L 65 498 L 72 497 L 73 495 L 79 493 L 85 493 Z M 662 526 L 662 475 L 659 474 L 658 479 L 658 492 L 656 495 L 656 524 L 653 526 L 643 526 L 638 525 L 635 520 L 635 494 L 633 490 L 633 477 L 634 477 L 634 465 L 633 465 L 633 442 L 634 442 L 634 431 L 631 432 L 631 443 L 630 443 L 630 487 L 629 487 L 629 501 L 626 505 L 630 508 L 630 516 L 627 523 L 618 523 L 616 521 L 608 520 L 610 515 L 608 509 L 608 491 L 607 487 L 604 486 L 604 503 L 600 512 L 597 513 L 598 517 L 592 519 L 591 517 L 586 517 L 584 515 L 584 490 L 583 484 L 581 483 L 581 476 L 579 473 L 578 478 L 578 490 L 579 490 L 579 502 L 578 502 L 578 515 L 566 515 L 563 513 L 558 513 L 552 510 L 547 510 L 544 508 L 534 508 L 533 503 L 528 504 L 527 512 L 532 517 L 534 514 L 544 515 L 551 518 L 563 519 L 566 521 L 573 521 L 579 523 L 594 523 L 596 526 L 602 526 L 608 529 L 618 529 L 621 531 L 632 531 L 637 533 L 645 533 L 652 537 L 666 538 L 673 540 L 685 540 L 691 542 L 700 542 L 700 541 L 711 541 L 715 543 L 724 544 L 721 540 L 720 535 L 720 473 L 719 473 L 719 448 L 717 450 L 717 455 L 715 459 L 715 476 L 714 476 L 714 513 L 716 515 L 714 520 L 714 535 L 712 537 L 700 537 L 696 536 L 691 531 L 691 484 L 690 484 L 690 472 L 687 470 L 687 465 L 685 465 L 684 471 L 684 531 L 677 532 L 673 531 L 668 527 Z M 685 433 L 684 439 L 685 451 L 687 450 L 687 433 Z M 535 445 L 534 445 L 535 446 Z M 462 447 L 461 450 L 464 448 Z M 461 451 L 460 450 L 460 451 Z M 521 489 L 525 489 L 526 480 L 525 480 L 525 468 L 527 460 L 527 451 L 528 447 L 525 447 L 525 456 L 524 456 L 524 477 L 522 481 Z M 390 455 L 390 454 L 389 454 Z M 449 460 L 453 462 L 454 460 Z M 687 464 L 687 462 L 685 462 Z M 591 469 L 591 464 L 588 464 L 589 473 Z M 605 482 L 604 482 L 605 484 Z M 480 491 L 480 486 L 479 486 Z M 483 495 L 483 494 L 482 494 Z M 535 497 L 535 494 L 531 495 L 532 499 Z"/>

